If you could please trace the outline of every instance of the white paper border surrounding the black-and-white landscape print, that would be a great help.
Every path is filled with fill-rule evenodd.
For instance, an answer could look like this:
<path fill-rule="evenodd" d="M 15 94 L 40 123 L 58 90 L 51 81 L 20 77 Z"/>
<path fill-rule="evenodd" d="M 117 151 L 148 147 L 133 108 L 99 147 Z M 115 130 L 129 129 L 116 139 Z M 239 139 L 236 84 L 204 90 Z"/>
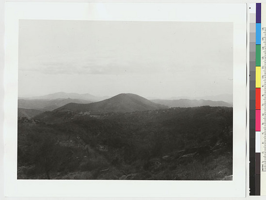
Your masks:
<path fill-rule="evenodd" d="M 5 196 L 245 197 L 246 4 L 6 2 L 5 7 Z M 233 22 L 233 181 L 17 180 L 19 19 Z"/>

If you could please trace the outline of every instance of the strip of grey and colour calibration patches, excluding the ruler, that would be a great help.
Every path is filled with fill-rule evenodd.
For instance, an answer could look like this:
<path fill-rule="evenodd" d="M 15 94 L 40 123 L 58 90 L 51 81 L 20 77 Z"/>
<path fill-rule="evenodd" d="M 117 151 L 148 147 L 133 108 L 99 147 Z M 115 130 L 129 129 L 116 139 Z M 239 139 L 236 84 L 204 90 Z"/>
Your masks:
<path fill-rule="evenodd" d="M 261 3 L 250 4 L 250 196 L 261 191 Z"/>

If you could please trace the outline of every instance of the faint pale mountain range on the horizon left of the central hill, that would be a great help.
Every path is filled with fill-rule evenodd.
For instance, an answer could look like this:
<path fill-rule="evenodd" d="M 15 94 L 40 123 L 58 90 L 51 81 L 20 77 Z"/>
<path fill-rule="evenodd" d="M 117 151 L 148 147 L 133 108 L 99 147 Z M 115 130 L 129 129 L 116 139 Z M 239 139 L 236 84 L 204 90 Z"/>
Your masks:
<path fill-rule="evenodd" d="M 78 94 L 78 93 L 65 93 L 65 92 L 57 92 L 53 94 L 48 94 L 44 96 L 37 96 L 37 97 L 31 97 L 31 98 L 19 98 L 19 99 L 46 99 L 46 100 L 55 100 L 55 99 L 79 99 L 79 100 L 90 100 L 90 101 L 99 101 L 99 100 L 105 100 L 110 97 L 96 97 L 94 95 L 91 95 L 89 93 L 86 94 Z"/>

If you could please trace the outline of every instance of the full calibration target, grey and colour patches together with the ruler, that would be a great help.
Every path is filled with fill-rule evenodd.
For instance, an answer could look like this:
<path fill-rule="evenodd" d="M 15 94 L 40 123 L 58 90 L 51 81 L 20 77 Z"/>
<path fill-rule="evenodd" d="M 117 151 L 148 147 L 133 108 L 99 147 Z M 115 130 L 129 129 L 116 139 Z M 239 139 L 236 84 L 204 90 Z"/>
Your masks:
<path fill-rule="evenodd" d="M 266 195 L 266 4 L 265 3 L 250 4 L 249 36 L 250 36 L 250 44 L 249 44 L 250 45 L 250 195 L 264 196 Z M 254 79 L 255 79 L 255 91 L 253 90 Z M 254 97 L 255 97 L 254 100 L 255 102 L 253 101 Z M 255 105 L 252 104 L 252 102 Z M 255 107 L 255 112 L 253 112 L 254 107 Z"/>

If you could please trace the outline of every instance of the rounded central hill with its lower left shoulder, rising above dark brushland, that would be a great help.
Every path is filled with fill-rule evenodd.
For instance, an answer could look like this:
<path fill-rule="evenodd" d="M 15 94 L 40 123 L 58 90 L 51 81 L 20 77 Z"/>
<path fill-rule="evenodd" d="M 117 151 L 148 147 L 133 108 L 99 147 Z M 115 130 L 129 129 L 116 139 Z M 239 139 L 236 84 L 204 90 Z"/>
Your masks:
<path fill-rule="evenodd" d="M 55 111 L 68 110 L 73 112 L 91 112 L 94 114 L 111 112 L 134 112 L 145 110 L 166 109 L 168 106 L 147 100 L 135 94 L 119 94 L 110 99 L 94 103 L 68 103 Z"/>

